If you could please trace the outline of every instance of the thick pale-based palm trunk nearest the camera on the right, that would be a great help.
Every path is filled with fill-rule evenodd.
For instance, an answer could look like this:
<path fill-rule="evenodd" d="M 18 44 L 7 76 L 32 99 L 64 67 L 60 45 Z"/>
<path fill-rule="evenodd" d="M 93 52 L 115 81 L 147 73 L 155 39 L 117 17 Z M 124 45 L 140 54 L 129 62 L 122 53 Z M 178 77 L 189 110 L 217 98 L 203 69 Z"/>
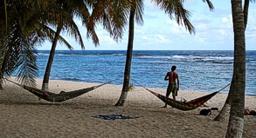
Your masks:
<path fill-rule="evenodd" d="M 244 128 L 245 89 L 246 89 L 246 42 L 244 13 L 241 0 L 232 0 L 234 31 L 234 66 L 232 106 L 225 137 L 242 137 Z"/>

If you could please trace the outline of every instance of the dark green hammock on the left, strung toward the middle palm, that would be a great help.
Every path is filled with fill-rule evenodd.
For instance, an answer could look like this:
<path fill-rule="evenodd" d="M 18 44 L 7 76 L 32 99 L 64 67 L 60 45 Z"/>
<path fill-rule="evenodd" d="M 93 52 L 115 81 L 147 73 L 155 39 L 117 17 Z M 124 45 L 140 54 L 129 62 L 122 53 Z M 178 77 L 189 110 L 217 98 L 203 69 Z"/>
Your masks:
<path fill-rule="evenodd" d="M 9 81 L 9 82 L 12 82 L 8 79 L 6 79 L 6 80 Z M 116 79 L 114 79 L 114 80 L 116 80 Z M 33 95 L 37 95 L 39 97 L 38 100 L 40 100 L 42 98 L 42 99 L 44 99 L 45 101 L 48 101 L 48 102 L 65 102 L 66 100 L 73 99 L 73 98 L 78 97 L 80 95 L 84 95 L 84 94 L 86 94 L 87 92 L 89 92 L 93 89 L 98 89 L 99 87 L 101 87 L 103 85 L 106 85 L 107 83 L 113 82 L 114 80 L 103 83 L 103 84 L 100 84 L 100 85 L 97 85 L 97 86 L 93 86 L 93 87 L 90 87 L 90 88 L 78 89 L 78 90 L 73 90 L 73 91 L 59 93 L 59 94 L 55 94 L 55 93 L 48 92 L 48 91 L 43 91 L 41 89 L 32 88 L 32 87 L 29 87 L 29 86 L 26 86 L 26 85 L 21 85 L 21 84 L 18 84 L 17 82 L 12 82 L 12 83 L 16 84 L 17 86 L 19 86 L 23 89 L 28 90 Z"/>

